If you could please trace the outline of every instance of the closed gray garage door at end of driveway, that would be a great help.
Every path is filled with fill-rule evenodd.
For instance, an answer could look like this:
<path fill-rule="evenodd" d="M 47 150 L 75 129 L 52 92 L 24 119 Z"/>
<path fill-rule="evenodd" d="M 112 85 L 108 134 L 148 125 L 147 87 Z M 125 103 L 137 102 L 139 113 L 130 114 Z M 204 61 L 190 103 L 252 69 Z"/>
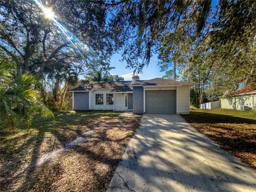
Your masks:
<path fill-rule="evenodd" d="M 176 90 L 145 92 L 146 113 L 176 113 Z"/>

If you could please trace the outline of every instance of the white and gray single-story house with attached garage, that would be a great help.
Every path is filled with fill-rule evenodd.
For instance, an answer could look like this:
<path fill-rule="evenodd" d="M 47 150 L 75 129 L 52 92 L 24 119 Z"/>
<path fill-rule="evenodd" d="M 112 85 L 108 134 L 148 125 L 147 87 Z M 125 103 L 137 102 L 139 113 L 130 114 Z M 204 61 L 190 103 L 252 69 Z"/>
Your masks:
<path fill-rule="evenodd" d="M 70 92 L 73 93 L 73 110 L 189 114 L 190 86 L 194 84 L 162 78 L 146 81 L 87 81 Z"/>

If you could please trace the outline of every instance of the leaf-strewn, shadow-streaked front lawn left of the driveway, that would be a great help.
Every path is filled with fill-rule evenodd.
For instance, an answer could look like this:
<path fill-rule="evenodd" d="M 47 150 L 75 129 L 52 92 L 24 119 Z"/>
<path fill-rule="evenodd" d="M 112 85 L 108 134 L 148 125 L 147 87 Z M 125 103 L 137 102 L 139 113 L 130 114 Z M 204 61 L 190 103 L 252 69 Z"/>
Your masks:
<path fill-rule="evenodd" d="M 140 121 L 113 111 L 54 115 L 34 118 L 30 129 L 19 124 L 14 132 L 2 132 L 1 191 L 105 191 Z M 67 148 L 76 138 L 87 140 Z M 65 151 L 38 164 L 60 149 Z"/>

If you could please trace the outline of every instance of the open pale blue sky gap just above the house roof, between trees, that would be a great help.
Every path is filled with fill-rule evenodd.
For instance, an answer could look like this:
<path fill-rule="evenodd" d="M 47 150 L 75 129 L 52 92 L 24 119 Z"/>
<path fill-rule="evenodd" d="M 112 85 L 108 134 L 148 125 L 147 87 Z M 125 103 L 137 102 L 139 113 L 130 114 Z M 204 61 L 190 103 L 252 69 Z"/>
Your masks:
<path fill-rule="evenodd" d="M 126 69 L 126 63 L 120 62 L 119 60 L 122 59 L 121 54 L 115 53 L 111 60 L 110 65 L 111 67 L 115 67 L 115 69 L 110 70 L 111 75 L 118 75 L 124 77 L 124 80 L 131 80 L 133 70 L 132 69 Z M 157 55 L 153 55 L 153 57 L 150 58 L 150 63 L 148 67 L 143 69 L 143 73 L 139 74 L 140 79 L 152 79 L 156 77 L 162 77 L 164 75 L 164 72 L 160 72 L 160 67 L 157 65 L 158 59 Z"/>

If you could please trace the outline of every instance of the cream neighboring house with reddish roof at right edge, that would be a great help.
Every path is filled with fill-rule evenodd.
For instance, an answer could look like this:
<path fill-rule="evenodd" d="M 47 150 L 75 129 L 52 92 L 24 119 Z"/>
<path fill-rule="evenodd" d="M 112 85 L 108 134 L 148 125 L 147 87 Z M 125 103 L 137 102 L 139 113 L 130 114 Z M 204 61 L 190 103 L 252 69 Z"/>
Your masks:
<path fill-rule="evenodd" d="M 220 106 L 223 109 L 256 110 L 256 89 L 243 87 L 220 97 Z"/>

